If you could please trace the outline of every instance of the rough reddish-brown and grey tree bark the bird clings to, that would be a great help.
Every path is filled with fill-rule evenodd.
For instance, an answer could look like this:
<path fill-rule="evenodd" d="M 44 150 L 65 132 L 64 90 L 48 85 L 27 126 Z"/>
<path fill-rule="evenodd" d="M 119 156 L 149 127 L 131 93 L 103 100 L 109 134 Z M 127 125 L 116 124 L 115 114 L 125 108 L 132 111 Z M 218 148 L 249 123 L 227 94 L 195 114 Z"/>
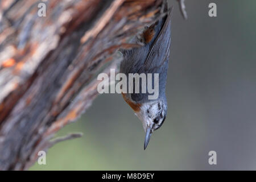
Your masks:
<path fill-rule="evenodd" d="M 161 14 L 162 0 L 0 0 L 0 169 L 28 169 L 98 95 L 100 72 Z M 103 70 L 103 71 L 102 71 Z"/>

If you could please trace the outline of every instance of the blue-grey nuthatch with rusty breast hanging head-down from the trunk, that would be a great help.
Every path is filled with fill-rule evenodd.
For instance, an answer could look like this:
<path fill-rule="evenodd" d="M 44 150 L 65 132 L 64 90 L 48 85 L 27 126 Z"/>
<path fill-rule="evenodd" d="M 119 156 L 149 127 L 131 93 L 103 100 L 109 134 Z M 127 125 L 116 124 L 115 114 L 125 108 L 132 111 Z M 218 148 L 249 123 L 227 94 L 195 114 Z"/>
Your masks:
<path fill-rule="evenodd" d="M 167 10 L 167 2 L 164 9 Z M 148 146 L 152 132 L 163 125 L 167 115 L 166 82 L 171 44 L 171 11 L 172 8 L 168 9 L 167 15 L 144 28 L 141 39 L 138 39 L 143 42 L 143 46 L 121 50 L 123 60 L 119 73 L 124 73 L 128 79 L 129 73 L 159 74 L 159 96 L 155 100 L 148 99 L 148 90 L 146 93 L 122 93 L 123 99 L 142 122 L 146 133 L 144 150 Z M 135 81 L 133 80 L 133 84 Z M 141 83 L 139 86 L 141 89 Z"/>

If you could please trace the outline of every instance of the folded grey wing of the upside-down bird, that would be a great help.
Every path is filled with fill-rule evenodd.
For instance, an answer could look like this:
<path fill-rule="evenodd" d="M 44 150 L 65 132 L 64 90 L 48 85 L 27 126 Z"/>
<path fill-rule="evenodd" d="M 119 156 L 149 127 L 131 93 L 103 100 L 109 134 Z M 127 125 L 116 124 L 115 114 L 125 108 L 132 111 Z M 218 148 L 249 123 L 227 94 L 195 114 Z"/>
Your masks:
<path fill-rule="evenodd" d="M 168 13 L 166 22 L 164 22 L 163 28 L 158 34 L 155 42 L 152 44 L 150 52 L 144 65 L 147 69 L 153 69 L 160 67 L 168 60 L 171 43 L 171 10 Z"/>

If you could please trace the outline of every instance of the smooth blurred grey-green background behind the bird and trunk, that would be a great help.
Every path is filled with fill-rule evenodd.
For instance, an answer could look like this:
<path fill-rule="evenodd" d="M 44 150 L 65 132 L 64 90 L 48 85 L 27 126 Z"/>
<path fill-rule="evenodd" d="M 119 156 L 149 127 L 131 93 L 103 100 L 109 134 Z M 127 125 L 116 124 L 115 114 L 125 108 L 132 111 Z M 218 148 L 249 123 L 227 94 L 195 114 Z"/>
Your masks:
<path fill-rule="evenodd" d="M 31 170 L 256 169 L 256 1 L 185 1 L 188 20 L 169 5 L 168 114 L 147 150 L 133 110 L 120 94 L 103 94 L 58 133 L 83 137 L 56 144 L 47 165 Z M 211 150 L 217 165 L 208 163 Z"/>

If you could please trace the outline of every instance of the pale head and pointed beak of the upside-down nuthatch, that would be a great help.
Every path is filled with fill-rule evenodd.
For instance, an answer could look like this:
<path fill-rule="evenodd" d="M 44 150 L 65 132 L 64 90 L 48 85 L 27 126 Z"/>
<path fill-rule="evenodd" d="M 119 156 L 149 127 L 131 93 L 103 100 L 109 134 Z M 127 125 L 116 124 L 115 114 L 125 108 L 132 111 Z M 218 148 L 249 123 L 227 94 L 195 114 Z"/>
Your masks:
<path fill-rule="evenodd" d="M 167 114 L 167 103 L 162 100 L 143 103 L 135 115 L 142 121 L 143 129 L 146 132 L 144 150 L 153 131 L 159 129 L 164 123 Z"/>

